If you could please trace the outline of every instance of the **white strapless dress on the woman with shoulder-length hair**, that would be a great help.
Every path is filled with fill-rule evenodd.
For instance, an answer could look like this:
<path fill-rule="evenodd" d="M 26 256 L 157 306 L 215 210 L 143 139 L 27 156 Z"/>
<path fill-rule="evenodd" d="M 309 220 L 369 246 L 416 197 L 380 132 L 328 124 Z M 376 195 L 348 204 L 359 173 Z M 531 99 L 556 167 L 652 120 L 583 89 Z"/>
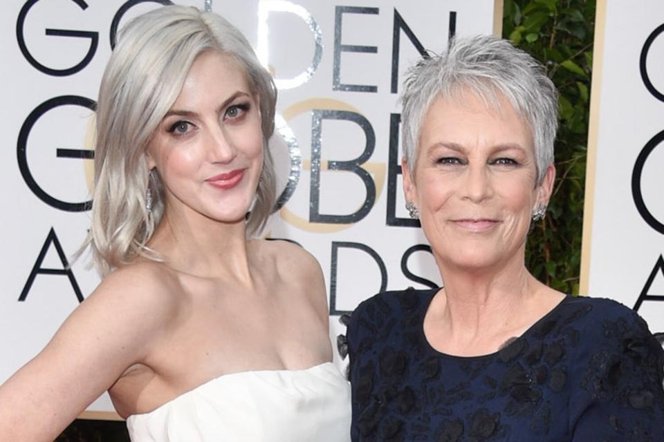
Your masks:
<path fill-rule="evenodd" d="M 351 394 L 333 363 L 226 374 L 127 418 L 132 442 L 348 442 Z"/>

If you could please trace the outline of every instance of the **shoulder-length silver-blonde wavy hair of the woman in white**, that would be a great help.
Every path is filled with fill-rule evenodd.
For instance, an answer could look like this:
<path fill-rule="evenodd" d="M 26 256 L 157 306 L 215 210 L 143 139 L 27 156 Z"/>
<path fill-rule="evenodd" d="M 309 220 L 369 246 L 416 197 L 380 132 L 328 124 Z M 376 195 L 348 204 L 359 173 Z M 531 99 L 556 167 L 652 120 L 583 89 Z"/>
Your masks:
<path fill-rule="evenodd" d="M 247 232 L 265 225 L 275 204 L 275 173 L 268 150 L 274 131 L 277 89 L 248 41 L 228 21 L 186 6 L 163 6 L 133 19 L 118 37 L 102 77 L 96 112 L 92 227 L 83 248 L 104 276 L 137 256 L 162 260 L 146 244 L 165 209 L 158 171 L 149 171 L 146 147 L 181 92 L 196 57 L 229 55 L 243 68 L 259 97 L 263 169 Z M 223 81 L 220 78 L 219 81 Z M 152 196 L 146 209 L 146 192 Z"/>

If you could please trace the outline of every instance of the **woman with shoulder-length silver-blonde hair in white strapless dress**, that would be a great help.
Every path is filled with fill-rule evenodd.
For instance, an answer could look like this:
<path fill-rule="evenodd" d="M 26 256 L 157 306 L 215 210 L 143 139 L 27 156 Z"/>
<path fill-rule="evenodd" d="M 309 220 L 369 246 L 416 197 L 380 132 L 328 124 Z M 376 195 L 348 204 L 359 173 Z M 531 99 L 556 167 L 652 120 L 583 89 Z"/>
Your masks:
<path fill-rule="evenodd" d="M 0 387 L 0 441 L 52 441 L 106 390 L 133 441 L 349 439 L 320 267 L 251 238 L 275 203 L 276 93 L 218 15 L 127 24 L 98 100 L 103 279 Z"/>

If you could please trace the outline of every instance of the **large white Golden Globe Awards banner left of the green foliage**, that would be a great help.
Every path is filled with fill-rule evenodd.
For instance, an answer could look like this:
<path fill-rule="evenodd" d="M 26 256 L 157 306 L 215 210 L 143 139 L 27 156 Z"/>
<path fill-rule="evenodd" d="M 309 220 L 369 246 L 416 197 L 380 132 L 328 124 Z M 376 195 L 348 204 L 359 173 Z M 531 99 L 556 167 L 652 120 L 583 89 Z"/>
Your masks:
<path fill-rule="evenodd" d="M 0 6 L 0 383 L 98 285 L 69 257 L 89 228 L 92 109 L 116 30 L 168 0 Z M 204 0 L 174 1 L 203 8 Z M 279 88 L 279 210 L 267 235 L 320 261 L 335 317 L 383 289 L 440 283 L 400 176 L 403 75 L 451 35 L 499 33 L 499 0 L 216 0 Z M 664 219 L 664 218 L 661 218 Z M 140 294 L 136 294 L 140 296 Z M 113 410 L 107 395 L 87 416 Z"/>

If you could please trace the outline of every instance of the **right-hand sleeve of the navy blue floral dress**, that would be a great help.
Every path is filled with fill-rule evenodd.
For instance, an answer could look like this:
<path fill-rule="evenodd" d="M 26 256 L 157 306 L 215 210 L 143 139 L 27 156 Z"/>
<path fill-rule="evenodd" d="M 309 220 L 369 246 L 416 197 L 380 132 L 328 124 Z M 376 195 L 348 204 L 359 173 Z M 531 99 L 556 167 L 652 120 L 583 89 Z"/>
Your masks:
<path fill-rule="evenodd" d="M 572 441 L 664 441 L 664 351 L 636 312 L 593 324 L 570 401 Z"/>

